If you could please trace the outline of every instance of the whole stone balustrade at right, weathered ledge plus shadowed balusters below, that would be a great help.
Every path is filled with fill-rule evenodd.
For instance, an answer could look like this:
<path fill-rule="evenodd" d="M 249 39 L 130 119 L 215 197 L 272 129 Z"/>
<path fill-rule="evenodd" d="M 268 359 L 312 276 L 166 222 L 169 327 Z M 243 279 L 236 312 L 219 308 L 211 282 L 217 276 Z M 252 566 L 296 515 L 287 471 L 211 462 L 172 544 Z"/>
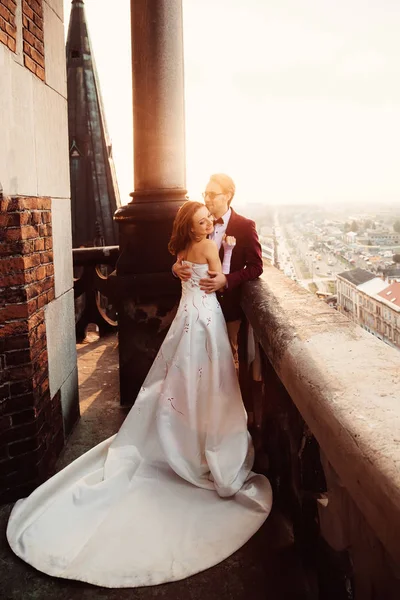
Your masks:
<path fill-rule="evenodd" d="M 242 305 L 257 466 L 316 574 L 311 597 L 400 598 L 400 353 L 274 267 Z"/>

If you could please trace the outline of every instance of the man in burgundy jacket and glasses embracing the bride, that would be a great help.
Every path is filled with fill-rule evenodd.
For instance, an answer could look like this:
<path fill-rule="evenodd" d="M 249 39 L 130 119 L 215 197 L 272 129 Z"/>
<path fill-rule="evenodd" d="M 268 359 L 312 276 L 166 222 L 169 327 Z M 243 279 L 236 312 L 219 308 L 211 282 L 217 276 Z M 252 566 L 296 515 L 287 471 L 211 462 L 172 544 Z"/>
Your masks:
<path fill-rule="evenodd" d="M 224 235 L 236 238 L 231 267 L 228 275 L 209 271 L 211 279 L 201 279 L 200 288 L 206 293 L 217 292 L 218 300 L 226 320 L 229 341 L 237 362 L 238 333 L 243 312 L 240 307 L 240 288 L 245 281 L 259 277 L 263 271 L 261 246 L 254 221 L 238 215 L 231 202 L 235 195 L 233 180 L 223 173 L 211 175 L 206 191 L 205 204 L 214 217 L 214 231 L 210 238 L 215 241 L 223 260 L 222 240 Z M 183 281 L 190 278 L 191 269 L 176 262 L 172 270 Z"/>

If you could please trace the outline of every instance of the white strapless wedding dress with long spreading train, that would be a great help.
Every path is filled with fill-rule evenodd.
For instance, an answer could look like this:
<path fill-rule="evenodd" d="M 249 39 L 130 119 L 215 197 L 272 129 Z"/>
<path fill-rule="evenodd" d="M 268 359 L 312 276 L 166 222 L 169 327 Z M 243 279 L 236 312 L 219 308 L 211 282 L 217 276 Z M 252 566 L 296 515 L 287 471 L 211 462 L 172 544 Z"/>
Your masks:
<path fill-rule="evenodd" d="M 183 579 L 267 518 L 225 320 L 192 265 L 175 320 L 119 432 L 19 500 L 8 542 L 36 569 L 105 587 Z"/>

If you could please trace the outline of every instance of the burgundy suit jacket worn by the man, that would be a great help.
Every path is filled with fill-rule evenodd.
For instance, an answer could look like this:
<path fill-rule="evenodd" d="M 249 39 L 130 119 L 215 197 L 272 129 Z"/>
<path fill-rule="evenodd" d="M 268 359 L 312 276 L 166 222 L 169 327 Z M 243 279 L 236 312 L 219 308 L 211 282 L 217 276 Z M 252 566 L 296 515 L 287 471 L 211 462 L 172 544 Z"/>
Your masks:
<path fill-rule="evenodd" d="M 240 287 L 245 281 L 257 279 L 263 272 L 261 245 L 254 221 L 238 215 L 233 209 L 226 228 L 226 235 L 236 238 L 232 251 L 231 268 L 226 275 L 228 287 L 217 292 L 218 300 L 226 321 L 236 321 L 243 317 L 240 307 Z M 220 258 L 223 259 L 221 246 Z"/>

